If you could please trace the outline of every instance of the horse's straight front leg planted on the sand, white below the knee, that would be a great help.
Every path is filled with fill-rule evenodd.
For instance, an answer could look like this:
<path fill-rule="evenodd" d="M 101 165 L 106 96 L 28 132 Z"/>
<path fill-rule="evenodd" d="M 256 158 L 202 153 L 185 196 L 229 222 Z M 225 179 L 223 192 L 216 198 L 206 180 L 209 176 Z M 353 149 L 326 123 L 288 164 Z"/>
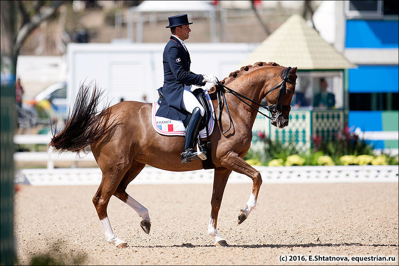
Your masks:
<path fill-rule="evenodd" d="M 217 246 L 227 246 L 227 242 L 219 236 L 216 230 L 217 216 L 220 210 L 220 204 L 222 203 L 224 189 L 226 187 L 227 180 L 232 171 L 225 168 L 216 168 L 213 177 L 213 190 L 211 198 L 211 218 L 208 225 L 208 235 L 210 235 L 215 241 Z"/>

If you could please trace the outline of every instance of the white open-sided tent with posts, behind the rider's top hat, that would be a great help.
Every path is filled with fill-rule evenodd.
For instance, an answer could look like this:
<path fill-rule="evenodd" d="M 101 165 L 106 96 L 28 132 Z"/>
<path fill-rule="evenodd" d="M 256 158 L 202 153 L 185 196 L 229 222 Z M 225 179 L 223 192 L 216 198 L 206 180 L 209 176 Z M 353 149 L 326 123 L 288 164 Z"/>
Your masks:
<path fill-rule="evenodd" d="M 143 1 L 140 5 L 130 8 L 128 19 L 128 39 L 133 41 L 133 18 L 137 17 L 136 42 L 142 42 L 143 13 L 184 14 L 187 12 L 205 12 L 210 18 L 211 42 L 216 42 L 215 8 L 210 1 Z"/>

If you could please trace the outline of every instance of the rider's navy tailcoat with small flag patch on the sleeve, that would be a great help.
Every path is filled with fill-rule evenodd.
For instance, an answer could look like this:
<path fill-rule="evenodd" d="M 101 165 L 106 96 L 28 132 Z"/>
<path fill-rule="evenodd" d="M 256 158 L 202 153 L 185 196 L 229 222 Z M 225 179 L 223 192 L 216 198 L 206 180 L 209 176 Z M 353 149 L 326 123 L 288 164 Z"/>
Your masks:
<path fill-rule="evenodd" d="M 190 54 L 174 36 L 170 36 L 163 57 L 164 97 L 156 115 L 184 121 L 189 115 L 183 108 L 184 85 L 204 86 L 205 82 L 202 82 L 204 77 L 190 72 Z"/>

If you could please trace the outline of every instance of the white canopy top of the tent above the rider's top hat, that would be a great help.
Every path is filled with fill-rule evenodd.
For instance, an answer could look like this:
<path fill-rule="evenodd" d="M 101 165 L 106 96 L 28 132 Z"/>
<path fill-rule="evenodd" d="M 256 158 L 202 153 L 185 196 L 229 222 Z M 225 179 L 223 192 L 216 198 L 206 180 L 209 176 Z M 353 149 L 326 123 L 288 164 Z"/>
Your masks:
<path fill-rule="evenodd" d="M 153 0 L 143 1 L 133 8 L 135 12 L 190 12 L 190 11 L 212 11 L 214 7 L 208 1 L 165 1 Z"/>

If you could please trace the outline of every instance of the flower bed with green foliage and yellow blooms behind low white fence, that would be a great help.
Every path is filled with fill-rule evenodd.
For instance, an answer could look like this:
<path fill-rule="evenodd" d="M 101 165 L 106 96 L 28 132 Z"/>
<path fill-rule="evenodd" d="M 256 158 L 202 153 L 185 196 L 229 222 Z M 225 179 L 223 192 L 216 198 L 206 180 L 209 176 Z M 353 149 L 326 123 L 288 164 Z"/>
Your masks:
<path fill-rule="evenodd" d="M 373 146 L 350 132 L 348 127 L 330 142 L 323 141 L 320 136 L 312 136 L 312 148 L 302 153 L 294 143 L 272 141 L 261 132 L 254 138 L 262 148 L 250 148 L 244 156 L 254 166 L 398 165 L 398 156 L 384 153 L 376 156 Z"/>

